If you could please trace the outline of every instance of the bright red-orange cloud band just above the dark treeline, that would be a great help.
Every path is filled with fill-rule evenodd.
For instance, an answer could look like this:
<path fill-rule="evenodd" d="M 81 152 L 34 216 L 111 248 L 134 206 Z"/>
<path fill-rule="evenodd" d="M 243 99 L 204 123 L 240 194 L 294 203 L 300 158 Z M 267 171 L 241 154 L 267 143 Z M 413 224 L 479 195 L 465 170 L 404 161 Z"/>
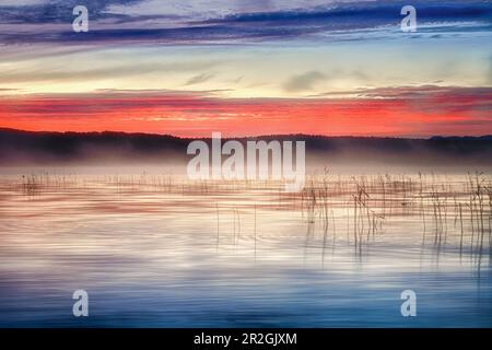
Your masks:
<path fill-rule="evenodd" d="M 351 97 L 221 98 L 177 92 L 104 91 L 0 98 L 0 126 L 206 137 L 478 136 L 492 133 L 490 88 L 393 88 Z"/>

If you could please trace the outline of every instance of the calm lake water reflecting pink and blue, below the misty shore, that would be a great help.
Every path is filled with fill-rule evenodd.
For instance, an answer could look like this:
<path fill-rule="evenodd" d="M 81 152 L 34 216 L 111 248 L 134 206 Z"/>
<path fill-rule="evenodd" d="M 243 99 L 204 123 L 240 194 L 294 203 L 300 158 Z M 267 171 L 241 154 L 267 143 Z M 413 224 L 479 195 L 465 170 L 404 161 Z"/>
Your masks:
<path fill-rule="evenodd" d="M 374 226 L 354 215 L 352 179 L 329 180 L 325 215 L 274 185 L 3 175 L 0 326 L 492 326 L 490 207 L 472 237 L 466 177 L 388 179 Z M 432 190 L 447 194 L 438 221 Z M 72 315 L 79 289 L 89 317 Z M 400 314 L 408 289 L 417 317 Z"/>

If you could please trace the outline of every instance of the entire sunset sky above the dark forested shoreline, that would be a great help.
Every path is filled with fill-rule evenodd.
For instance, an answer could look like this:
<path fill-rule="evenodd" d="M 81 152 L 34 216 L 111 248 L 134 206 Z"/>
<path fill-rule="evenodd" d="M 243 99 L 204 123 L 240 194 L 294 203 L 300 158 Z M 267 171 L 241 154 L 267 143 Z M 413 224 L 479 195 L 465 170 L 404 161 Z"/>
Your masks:
<path fill-rule="evenodd" d="M 492 1 L 0 0 L 0 127 L 492 135 Z"/>

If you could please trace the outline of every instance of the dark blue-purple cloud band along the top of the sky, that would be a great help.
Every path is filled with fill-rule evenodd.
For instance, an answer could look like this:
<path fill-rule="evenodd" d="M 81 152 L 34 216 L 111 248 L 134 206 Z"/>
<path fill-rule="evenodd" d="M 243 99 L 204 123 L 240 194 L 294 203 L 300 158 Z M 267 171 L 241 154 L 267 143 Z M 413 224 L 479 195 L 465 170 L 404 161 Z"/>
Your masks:
<path fill-rule="evenodd" d="M 8 2 L 12 4 L 12 2 Z M 293 38 L 361 39 L 396 35 L 403 1 L 86 0 L 91 31 L 71 32 L 78 1 L 2 7 L 0 43 L 251 43 Z M 490 31 L 492 3 L 415 0 L 420 35 Z M 54 27 L 54 24 L 60 24 Z M 398 33 L 400 35 L 401 33 Z"/>

